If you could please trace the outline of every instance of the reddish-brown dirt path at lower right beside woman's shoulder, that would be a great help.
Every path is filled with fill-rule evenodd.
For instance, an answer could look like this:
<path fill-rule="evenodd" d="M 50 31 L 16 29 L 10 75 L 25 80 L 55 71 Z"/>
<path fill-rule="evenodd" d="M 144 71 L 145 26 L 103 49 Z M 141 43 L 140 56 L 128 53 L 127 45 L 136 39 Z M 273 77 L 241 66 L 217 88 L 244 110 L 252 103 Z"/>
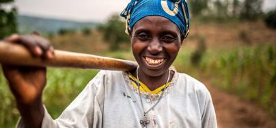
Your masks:
<path fill-rule="evenodd" d="M 217 113 L 218 127 L 221 128 L 276 128 L 276 121 L 269 118 L 264 110 L 238 97 L 216 89 L 205 83 L 212 95 Z"/>

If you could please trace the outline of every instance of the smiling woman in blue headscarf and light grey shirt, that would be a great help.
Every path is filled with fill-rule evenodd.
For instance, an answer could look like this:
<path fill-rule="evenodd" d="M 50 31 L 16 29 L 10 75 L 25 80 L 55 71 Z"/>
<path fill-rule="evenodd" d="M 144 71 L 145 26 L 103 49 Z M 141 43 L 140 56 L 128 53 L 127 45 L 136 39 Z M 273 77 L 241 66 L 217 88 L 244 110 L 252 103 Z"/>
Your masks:
<path fill-rule="evenodd" d="M 132 0 L 121 16 L 139 67 L 100 71 L 55 121 L 42 105 L 45 68 L 3 65 L 22 116 L 18 127 L 217 127 L 204 84 L 170 68 L 189 33 L 187 2 Z M 37 35 L 8 41 L 38 57 L 54 56 Z"/>

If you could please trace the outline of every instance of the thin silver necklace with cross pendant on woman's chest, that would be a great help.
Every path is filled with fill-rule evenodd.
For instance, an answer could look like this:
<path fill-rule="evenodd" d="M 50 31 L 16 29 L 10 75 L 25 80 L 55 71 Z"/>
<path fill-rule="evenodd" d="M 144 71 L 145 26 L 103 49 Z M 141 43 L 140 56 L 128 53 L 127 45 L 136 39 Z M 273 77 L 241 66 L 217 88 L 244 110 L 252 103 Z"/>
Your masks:
<path fill-rule="evenodd" d="M 148 109 L 147 111 L 145 111 L 145 109 L 143 108 L 143 101 L 142 101 L 142 97 L 141 97 L 141 91 L 140 91 L 140 86 L 141 85 L 139 83 L 138 69 L 139 69 L 139 66 L 136 69 L 136 76 L 137 76 L 139 97 L 140 97 L 140 101 L 141 101 L 141 105 L 142 105 L 142 109 L 143 109 L 143 118 L 140 120 L 140 124 L 143 126 L 143 128 L 146 128 L 147 125 L 150 123 L 150 120 L 148 119 L 148 115 L 147 114 L 148 114 L 148 112 L 150 112 L 150 110 L 152 110 L 153 108 L 155 108 L 155 106 L 157 106 L 157 104 L 159 103 L 159 101 L 162 99 L 163 93 L 164 93 L 165 89 L 168 86 L 169 76 L 170 76 L 171 70 L 169 69 L 169 75 L 167 77 L 167 82 L 165 84 L 164 89 L 162 89 L 162 93 L 161 93 L 160 98 L 158 99 L 158 101 L 156 101 L 156 103 L 150 109 Z"/>

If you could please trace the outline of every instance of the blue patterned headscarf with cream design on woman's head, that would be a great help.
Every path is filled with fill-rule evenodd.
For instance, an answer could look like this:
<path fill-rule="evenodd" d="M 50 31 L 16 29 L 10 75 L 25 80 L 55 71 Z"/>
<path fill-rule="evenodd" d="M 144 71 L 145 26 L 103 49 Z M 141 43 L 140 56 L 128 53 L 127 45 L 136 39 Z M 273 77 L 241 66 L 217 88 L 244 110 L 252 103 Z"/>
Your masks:
<path fill-rule="evenodd" d="M 190 28 L 190 16 L 186 0 L 131 0 L 121 13 L 126 19 L 126 33 L 146 16 L 163 16 L 174 22 L 186 38 Z"/>

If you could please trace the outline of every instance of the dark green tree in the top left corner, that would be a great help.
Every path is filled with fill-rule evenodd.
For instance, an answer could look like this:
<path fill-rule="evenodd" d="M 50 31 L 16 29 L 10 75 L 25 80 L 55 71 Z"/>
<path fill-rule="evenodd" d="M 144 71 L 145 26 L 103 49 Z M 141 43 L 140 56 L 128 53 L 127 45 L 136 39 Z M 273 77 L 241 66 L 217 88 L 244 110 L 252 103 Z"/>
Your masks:
<path fill-rule="evenodd" d="M 0 1 L 0 39 L 17 32 L 16 7 L 13 7 L 10 11 L 6 11 L 2 7 L 3 3 L 11 2 L 13 2 L 13 0 Z"/>

